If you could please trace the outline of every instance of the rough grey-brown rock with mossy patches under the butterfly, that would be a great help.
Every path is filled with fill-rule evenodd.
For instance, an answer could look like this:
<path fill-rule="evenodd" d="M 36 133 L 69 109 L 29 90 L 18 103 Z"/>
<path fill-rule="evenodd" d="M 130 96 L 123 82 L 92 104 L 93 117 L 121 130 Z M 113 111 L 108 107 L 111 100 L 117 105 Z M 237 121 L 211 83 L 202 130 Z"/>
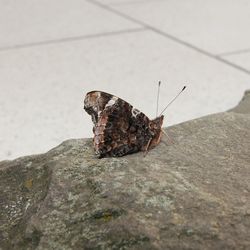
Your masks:
<path fill-rule="evenodd" d="M 249 96 L 146 157 L 75 139 L 0 162 L 0 249 L 249 249 Z"/>

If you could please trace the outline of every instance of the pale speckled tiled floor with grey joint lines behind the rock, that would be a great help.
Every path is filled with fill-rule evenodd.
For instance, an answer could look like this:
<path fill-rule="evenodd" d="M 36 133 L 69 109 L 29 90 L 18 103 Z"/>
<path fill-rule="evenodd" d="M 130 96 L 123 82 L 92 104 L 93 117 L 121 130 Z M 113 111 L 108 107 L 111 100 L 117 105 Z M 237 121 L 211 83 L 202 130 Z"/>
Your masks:
<path fill-rule="evenodd" d="M 91 137 L 83 98 L 94 89 L 153 118 L 158 80 L 160 109 L 186 84 L 164 126 L 232 108 L 250 88 L 249 9 L 243 0 L 206 8 L 198 0 L 0 1 L 0 160 Z"/>

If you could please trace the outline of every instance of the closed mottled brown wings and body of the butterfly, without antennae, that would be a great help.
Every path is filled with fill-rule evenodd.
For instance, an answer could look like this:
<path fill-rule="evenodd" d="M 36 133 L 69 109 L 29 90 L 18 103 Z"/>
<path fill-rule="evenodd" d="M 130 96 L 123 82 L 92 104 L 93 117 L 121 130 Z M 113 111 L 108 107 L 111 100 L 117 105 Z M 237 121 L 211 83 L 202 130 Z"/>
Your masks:
<path fill-rule="evenodd" d="M 84 109 L 94 123 L 94 149 L 101 157 L 147 151 L 162 136 L 163 116 L 150 120 L 126 101 L 102 91 L 91 91 Z"/>

